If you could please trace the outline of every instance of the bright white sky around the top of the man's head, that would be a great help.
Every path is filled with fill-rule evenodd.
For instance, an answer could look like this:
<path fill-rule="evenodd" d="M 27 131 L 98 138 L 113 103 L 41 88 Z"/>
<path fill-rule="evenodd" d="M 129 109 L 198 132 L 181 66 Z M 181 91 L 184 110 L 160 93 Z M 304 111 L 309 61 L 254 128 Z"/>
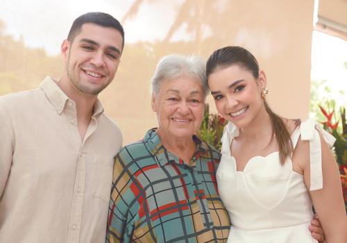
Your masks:
<path fill-rule="evenodd" d="M 162 11 L 153 11 L 153 3 L 144 1 L 136 17 L 122 23 L 126 30 L 126 42 L 164 38 L 167 26 L 174 22 L 175 12 L 171 9 L 178 7 L 182 1 L 155 2 L 155 7 Z M 0 21 L 5 22 L 6 33 L 16 39 L 22 35 L 29 47 L 43 47 L 49 54 L 56 55 L 76 17 L 85 12 L 100 11 L 108 12 L 121 21 L 134 2 L 135 0 L 1 0 Z M 147 17 L 149 12 L 151 18 Z M 153 19 L 160 19 L 160 22 L 155 22 L 155 28 L 151 28 Z M 148 28 L 143 28 L 144 26 Z"/>

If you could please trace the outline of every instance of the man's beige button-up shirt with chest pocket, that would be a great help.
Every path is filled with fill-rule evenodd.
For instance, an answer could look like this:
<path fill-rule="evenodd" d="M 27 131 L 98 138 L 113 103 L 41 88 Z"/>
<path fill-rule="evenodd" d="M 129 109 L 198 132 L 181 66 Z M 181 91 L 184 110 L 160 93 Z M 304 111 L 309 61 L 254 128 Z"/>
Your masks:
<path fill-rule="evenodd" d="M 99 100 L 83 141 L 76 121 L 49 77 L 0 97 L 0 242 L 104 242 L 121 132 Z"/>

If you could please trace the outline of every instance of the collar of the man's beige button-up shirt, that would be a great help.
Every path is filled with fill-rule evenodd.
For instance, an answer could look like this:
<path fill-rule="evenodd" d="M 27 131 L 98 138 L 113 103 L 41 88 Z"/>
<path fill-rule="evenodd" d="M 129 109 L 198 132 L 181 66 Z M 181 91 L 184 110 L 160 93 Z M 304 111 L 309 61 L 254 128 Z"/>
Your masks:
<path fill-rule="evenodd" d="M 40 89 L 46 94 L 47 99 L 51 102 L 52 106 L 56 109 L 56 112 L 60 115 L 65 108 L 67 101 L 72 101 L 67 95 L 60 89 L 56 81 L 53 78 L 47 76 L 44 78 L 40 85 Z M 99 117 L 103 113 L 103 106 L 99 99 L 96 99 L 94 104 L 94 112 L 92 117 Z"/>

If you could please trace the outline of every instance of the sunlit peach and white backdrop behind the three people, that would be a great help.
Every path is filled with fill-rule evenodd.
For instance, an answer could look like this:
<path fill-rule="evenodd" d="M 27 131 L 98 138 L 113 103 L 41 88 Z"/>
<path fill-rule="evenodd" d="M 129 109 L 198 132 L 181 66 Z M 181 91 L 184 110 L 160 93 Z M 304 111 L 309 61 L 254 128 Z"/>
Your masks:
<path fill-rule="evenodd" d="M 115 81 L 101 94 L 124 143 L 156 126 L 149 79 L 169 53 L 208 58 L 226 45 L 246 47 L 265 70 L 280 115 L 314 117 L 329 99 L 347 105 L 346 0 L 1 0 L 0 94 L 59 78 L 60 44 L 74 19 L 90 11 L 110 13 L 126 32 Z"/>

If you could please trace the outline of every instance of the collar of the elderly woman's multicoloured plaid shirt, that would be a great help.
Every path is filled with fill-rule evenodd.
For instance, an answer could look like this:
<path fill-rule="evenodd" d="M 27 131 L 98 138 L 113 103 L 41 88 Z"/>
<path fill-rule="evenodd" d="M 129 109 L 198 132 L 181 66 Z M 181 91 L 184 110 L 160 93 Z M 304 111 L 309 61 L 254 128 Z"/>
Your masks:
<path fill-rule="evenodd" d="M 146 133 L 146 135 L 144 136 L 144 144 L 146 144 L 146 147 L 153 154 L 158 165 L 162 167 L 164 165 L 167 165 L 167 163 L 169 162 L 182 164 L 182 160 L 167 151 L 164 145 L 162 145 L 160 137 L 157 133 L 155 133 L 156 129 L 157 128 L 152 128 Z M 196 150 L 194 152 L 192 160 L 195 162 L 199 157 L 204 156 L 206 153 L 208 153 L 208 145 L 202 142 L 196 135 L 193 135 L 193 140 L 196 144 Z"/>

